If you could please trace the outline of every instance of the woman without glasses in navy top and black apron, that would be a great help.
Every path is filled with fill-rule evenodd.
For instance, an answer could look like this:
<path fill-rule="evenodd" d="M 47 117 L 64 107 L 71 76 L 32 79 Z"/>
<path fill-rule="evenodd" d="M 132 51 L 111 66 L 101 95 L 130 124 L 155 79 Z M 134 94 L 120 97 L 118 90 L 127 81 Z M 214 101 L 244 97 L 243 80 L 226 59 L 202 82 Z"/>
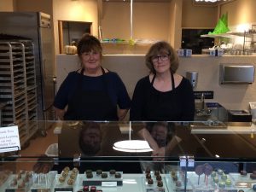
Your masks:
<path fill-rule="evenodd" d="M 102 67 L 101 42 L 85 34 L 78 55 L 81 68 L 68 73 L 55 96 L 56 116 L 61 120 L 124 119 L 131 99 L 119 75 Z"/>

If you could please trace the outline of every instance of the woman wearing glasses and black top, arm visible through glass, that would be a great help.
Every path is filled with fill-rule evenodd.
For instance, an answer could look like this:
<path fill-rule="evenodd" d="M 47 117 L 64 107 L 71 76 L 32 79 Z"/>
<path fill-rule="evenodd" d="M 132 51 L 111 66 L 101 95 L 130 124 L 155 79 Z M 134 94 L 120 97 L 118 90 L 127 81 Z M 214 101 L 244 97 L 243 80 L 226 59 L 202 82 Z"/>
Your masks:
<path fill-rule="evenodd" d="M 195 99 L 189 79 L 176 73 L 178 57 L 172 46 L 160 41 L 151 46 L 146 55 L 149 75 L 140 79 L 131 99 L 132 121 L 192 121 L 195 114 Z M 137 133 L 148 140 L 154 149 L 153 155 L 164 155 L 143 128 Z"/>

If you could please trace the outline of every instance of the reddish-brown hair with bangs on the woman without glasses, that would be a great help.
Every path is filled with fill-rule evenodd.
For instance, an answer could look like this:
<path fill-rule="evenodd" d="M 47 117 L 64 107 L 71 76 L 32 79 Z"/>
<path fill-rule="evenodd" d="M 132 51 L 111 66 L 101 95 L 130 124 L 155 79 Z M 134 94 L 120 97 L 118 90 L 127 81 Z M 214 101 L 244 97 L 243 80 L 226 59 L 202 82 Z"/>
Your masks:
<path fill-rule="evenodd" d="M 81 56 L 84 52 L 90 52 L 94 50 L 102 55 L 102 44 L 96 37 L 85 33 L 79 40 L 78 55 Z"/>

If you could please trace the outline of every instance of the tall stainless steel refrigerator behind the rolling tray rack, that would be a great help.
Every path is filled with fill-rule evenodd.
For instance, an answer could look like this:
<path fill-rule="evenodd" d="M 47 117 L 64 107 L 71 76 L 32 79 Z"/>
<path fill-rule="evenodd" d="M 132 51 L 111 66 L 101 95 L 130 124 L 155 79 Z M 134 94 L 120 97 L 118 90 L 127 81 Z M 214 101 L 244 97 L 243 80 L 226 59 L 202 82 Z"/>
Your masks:
<path fill-rule="evenodd" d="M 37 76 L 38 119 L 54 119 L 54 41 L 50 15 L 41 12 L 0 12 L 0 18 L 0 33 L 32 39 Z"/>

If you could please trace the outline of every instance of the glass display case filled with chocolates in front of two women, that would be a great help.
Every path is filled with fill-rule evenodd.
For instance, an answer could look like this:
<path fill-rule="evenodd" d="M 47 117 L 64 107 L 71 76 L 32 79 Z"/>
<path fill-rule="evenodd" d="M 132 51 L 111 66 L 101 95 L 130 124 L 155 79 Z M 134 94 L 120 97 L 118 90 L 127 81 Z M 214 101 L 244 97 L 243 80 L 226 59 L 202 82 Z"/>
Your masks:
<path fill-rule="evenodd" d="M 1 192 L 256 190 L 255 125 L 46 124 L 45 137 L 34 137 L 19 151 L 0 154 Z M 3 141 L 3 133 L 0 137 Z"/>

